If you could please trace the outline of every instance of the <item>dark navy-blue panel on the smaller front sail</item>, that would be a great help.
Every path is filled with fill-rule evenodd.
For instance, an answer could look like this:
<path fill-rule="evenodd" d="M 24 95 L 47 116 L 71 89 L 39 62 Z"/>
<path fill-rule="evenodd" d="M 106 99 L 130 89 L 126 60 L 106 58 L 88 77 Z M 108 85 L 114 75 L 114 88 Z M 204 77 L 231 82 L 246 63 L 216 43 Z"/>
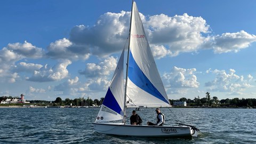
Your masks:
<path fill-rule="evenodd" d="M 106 107 L 116 111 L 116 113 L 122 115 L 122 109 L 119 106 L 118 102 L 116 101 L 113 93 L 111 92 L 110 88 L 108 87 L 108 91 L 107 94 L 103 100 L 103 105 L 105 105 Z"/>

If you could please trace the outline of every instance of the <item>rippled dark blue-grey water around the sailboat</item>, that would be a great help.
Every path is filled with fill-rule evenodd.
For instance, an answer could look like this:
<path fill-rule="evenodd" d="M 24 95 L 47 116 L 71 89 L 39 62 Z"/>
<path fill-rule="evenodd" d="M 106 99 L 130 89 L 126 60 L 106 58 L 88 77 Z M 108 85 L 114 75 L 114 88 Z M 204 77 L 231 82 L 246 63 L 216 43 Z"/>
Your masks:
<path fill-rule="evenodd" d="M 130 116 L 131 110 L 128 110 Z M 0 108 L 0 143 L 256 143 L 256 109 L 162 109 L 166 124 L 180 122 L 200 130 L 192 140 L 113 137 L 93 131 L 99 108 Z M 154 109 L 137 111 L 155 121 Z"/>

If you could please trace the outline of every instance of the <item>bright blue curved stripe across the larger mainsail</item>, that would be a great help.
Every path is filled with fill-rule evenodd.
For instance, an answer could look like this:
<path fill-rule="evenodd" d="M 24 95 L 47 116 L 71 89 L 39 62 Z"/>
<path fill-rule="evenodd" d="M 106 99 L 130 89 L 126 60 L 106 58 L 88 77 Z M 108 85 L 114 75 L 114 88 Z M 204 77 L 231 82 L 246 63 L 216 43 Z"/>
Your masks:
<path fill-rule="evenodd" d="M 154 97 L 169 103 L 163 95 L 156 89 L 156 87 L 149 81 L 147 76 L 143 73 L 143 71 L 139 68 L 137 63 L 135 62 L 132 53 L 130 51 L 129 54 L 129 70 L 128 70 L 128 77 L 130 80 L 140 87 L 140 89 L 154 95 Z"/>

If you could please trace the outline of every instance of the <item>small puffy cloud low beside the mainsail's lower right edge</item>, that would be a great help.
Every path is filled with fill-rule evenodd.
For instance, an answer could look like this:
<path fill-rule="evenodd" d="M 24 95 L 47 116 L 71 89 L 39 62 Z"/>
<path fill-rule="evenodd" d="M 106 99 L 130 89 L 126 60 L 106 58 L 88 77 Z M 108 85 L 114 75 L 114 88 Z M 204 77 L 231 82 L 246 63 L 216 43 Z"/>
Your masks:
<path fill-rule="evenodd" d="M 162 76 L 162 79 L 165 86 L 168 88 L 197 88 L 199 83 L 197 82 L 197 77 L 194 74 L 195 72 L 195 68 L 184 69 L 173 67 L 170 73 L 165 73 Z"/>

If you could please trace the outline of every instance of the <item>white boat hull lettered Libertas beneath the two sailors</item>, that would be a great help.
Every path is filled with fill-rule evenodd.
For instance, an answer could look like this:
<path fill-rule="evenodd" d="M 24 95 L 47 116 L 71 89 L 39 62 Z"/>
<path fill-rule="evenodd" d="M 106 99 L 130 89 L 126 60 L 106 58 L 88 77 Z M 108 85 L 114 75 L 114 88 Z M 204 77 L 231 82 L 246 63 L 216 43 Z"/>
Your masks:
<path fill-rule="evenodd" d="M 93 123 L 94 131 L 103 134 L 135 137 L 197 137 L 197 131 L 189 126 L 124 125 L 122 123 Z M 193 134 L 194 133 L 194 134 Z"/>

